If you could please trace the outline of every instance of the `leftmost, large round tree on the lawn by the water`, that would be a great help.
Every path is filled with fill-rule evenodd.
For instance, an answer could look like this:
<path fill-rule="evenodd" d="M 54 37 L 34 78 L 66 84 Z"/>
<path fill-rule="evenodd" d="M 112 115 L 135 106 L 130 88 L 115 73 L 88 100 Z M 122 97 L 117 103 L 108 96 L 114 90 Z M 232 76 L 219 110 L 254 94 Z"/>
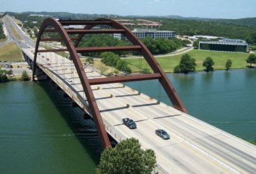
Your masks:
<path fill-rule="evenodd" d="M 180 73 L 188 74 L 190 71 L 195 71 L 196 61 L 189 54 L 182 55 L 180 59 Z"/>

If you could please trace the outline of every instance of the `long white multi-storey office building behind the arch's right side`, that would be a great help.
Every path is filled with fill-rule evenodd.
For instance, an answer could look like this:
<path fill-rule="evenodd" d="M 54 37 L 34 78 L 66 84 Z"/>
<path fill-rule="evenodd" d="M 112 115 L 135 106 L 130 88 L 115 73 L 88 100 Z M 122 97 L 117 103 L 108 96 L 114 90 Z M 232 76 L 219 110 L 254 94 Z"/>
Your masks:
<path fill-rule="evenodd" d="M 175 31 L 157 31 L 156 29 L 134 29 L 132 33 L 136 34 L 136 36 L 140 39 L 143 39 L 145 37 L 150 37 L 153 39 L 157 38 L 175 38 Z M 121 33 L 115 33 L 114 38 L 120 40 L 121 38 L 124 38 L 124 34 Z"/>

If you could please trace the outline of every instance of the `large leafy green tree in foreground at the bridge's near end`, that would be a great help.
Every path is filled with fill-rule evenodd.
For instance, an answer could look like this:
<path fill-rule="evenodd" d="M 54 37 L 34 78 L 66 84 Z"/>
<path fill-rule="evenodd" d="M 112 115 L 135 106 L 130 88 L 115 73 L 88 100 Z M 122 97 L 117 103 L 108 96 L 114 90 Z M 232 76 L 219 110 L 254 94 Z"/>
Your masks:
<path fill-rule="evenodd" d="M 115 148 L 107 147 L 100 156 L 97 174 L 148 174 L 156 166 L 156 155 L 143 150 L 138 140 L 123 140 Z"/>

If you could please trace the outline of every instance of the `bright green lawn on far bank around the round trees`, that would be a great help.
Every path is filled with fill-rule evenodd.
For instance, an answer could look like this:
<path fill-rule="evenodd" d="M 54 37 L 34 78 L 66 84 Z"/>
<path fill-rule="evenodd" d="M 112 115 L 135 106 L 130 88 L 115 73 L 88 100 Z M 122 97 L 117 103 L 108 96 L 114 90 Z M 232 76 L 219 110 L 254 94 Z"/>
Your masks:
<path fill-rule="evenodd" d="M 246 59 L 248 58 L 248 53 L 235 53 L 235 52 L 213 52 L 204 50 L 192 50 L 188 52 L 191 57 L 196 59 L 196 71 L 203 71 L 205 68 L 202 63 L 206 57 L 212 57 L 215 64 L 214 69 L 225 69 L 225 64 L 228 59 L 232 60 L 231 69 L 246 68 Z M 172 73 L 173 68 L 179 64 L 182 55 L 173 55 L 169 57 L 157 57 L 156 60 L 159 62 L 161 67 L 166 73 Z M 126 59 L 125 60 L 132 71 L 140 71 L 141 68 L 149 68 L 147 62 L 144 59 Z"/>

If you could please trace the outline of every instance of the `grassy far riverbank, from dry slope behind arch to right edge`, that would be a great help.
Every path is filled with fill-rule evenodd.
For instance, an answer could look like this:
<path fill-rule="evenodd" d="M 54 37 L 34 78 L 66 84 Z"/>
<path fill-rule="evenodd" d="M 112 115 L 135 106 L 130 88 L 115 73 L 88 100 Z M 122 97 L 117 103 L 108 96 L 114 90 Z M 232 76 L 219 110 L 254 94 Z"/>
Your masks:
<path fill-rule="evenodd" d="M 161 68 L 163 68 L 165 73 L 174 73 L 173 70 L 175 66 L 179 65 L 180 59 L 182 55 L 188 54 L 196 61 L 195 72 L 205 71 L 205 66 L 203 66 L 203 62 L 206 57 L 211 57 L 214 61 L 214 65 L 212 66 L 213 70 L 234 70 L 234 69 L 246 69 L 246 68 L 256 68 L 255 66 L 250 66 L 249 63 L 246 62 L 250 53 L 244 52 L 216 52 L 216 51 L 205 51 L 205 50 L 191 50 L 184 54 L 180 55 L 170 55 L 170 56 L 157 56 L 154 55 L 157 62 L 159 62 Z M 92 57 L 91 57 L 92 58 Z M 92 58 L 93 61 L 90 62 L 92 66 L 99 69 L 104 75 L 109 75 L 111 72 L 118 71 L 117 69 L 106 66 L 103 64 L 99 58 Z M 125 57 L 121 58 L 129 68 L 131 68 L 131 73 L 142 73 L 143 69 L 148 69 L 148 73 L 152 73 L 152 69 L 148 65 L 147 61 L 144 58 L 140 57 L 129 57 L 127 59 Z M 86 57 L 81 58 L 82 62 L 86 62 Z M 231 67 L 227 69 L 227 61 L 231 61 Z M 103 70 L 102 70 L 103 69 Z"/>

